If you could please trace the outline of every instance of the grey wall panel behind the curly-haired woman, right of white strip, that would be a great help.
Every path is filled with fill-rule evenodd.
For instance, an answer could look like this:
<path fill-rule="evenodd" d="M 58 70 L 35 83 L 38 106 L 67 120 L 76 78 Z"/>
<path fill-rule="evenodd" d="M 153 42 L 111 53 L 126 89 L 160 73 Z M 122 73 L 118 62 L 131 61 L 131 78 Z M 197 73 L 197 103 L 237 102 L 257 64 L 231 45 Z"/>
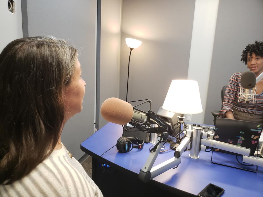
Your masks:
<path fill-rule="evenodd" d="M 262 0 L 219 1 L 205 124 L 213 124 L 211 111 L 221 109 L 221 88 L 227 85 L 231 75 L 248 70 L 240 61 L 242 50 L 255 40 L 263 41 L 262 21 Z"/>

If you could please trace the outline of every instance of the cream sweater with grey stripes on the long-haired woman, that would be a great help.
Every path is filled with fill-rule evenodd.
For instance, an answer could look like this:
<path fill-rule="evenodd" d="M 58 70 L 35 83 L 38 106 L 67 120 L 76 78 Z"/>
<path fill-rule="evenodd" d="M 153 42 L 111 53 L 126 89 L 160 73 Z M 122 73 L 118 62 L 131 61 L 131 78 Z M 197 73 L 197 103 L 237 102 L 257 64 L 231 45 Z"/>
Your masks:
<path fill-rule="evenodd" d="M 82 165 L 64 147 L 55 150 L 26 177 L 0 185 L 0 196 L 99 196 L 102 193 Z"/>

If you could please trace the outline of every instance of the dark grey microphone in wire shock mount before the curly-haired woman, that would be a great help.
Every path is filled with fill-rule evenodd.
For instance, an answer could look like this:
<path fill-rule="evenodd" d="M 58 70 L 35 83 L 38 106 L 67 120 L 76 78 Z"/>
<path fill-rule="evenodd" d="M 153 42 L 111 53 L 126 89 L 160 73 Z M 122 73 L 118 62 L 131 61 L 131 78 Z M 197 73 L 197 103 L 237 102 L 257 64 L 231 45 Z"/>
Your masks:
<path fill-rule="evenodd" d="M 241 86 L 244 91 L 240 91 L 240 100 L 250 101 L 251 98 L 255 99 L 255 94 L 252 89 L 256 86 L 256 74 L 252 71 L 245 71 L 241 74 Z"/>

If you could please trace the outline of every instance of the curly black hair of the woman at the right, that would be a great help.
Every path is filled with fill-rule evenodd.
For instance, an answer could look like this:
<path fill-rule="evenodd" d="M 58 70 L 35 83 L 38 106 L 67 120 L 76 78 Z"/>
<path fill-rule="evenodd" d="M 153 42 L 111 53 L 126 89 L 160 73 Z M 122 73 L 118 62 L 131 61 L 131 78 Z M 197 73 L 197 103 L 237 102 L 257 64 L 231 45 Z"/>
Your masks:
<path fill-rule="evenodd" d="M 263 58 L 263 42 L 256 41 L 255 44 L 249 44 L 246 46 L 241 55 L 241 61 L 244 61 L 245 64 L 247 64 L 248 53 L 250 56 L 252 55 L 252 53 L 255 53 L 256 56 L 260 56 Z"/>

